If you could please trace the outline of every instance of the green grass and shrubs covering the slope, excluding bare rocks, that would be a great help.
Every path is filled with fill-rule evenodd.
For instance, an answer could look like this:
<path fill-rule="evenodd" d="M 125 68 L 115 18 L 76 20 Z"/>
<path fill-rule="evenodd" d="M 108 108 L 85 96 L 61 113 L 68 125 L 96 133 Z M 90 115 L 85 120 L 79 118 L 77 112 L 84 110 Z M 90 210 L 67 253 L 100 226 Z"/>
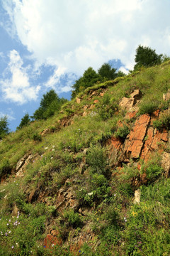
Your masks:
<path fill-rule="evenodd" d="M 45 230 L 48 225 L 59 229 L 65 239 L 64 248 L 73 237 L 79 238 L 86 223 L 90 223 L 95 239 L 85 244 L 81 252 L 77 250 L 77 255 L 170 255 L 169 178 L 158 176 L 156 181 L 142 186 L 141 203 L 134 205 L 130 178 L 137 170 L 125 166 L 119 176 L 111 175 L 116 170 L 109 166 L 104 146 L 118 129 L 118 119 L 125 117 L 125 112 L 117 111 L 122 97 L 140 89 L 143 111 L 150 102 L 164 106 L 162 95 L 169 88 L 170 63 L 164 63 L 88 88 L 78 96 L 80 104 L 73 100 L 63 106 L 60 115 L 34 122 L 0 142 L 0 174 L 11 172 L 0 186 L 0 255 L 72 255 L 68 248 L 45 249 Z M 102 90 L 106 93 L 99 97 Z M 96 95 L 90 97 L 93 91 Z M 87 110 L 89 114 L 82 117 L 84 105 L 90 106 L 94 100 L 100 101 L 98 107 Z M 72 125 L 60 127 L 58 119 L 71 117 Z M 47 127 L 51 132 L 42 141 L 36 141 Z M 16 177 L 16 164 L 27 152 L 34 159 L 24 176 Z M 80 174 L 84 158 L 84 174 Z M 152 167 L 153 164 L 154 161 Z M 66 186 L 67 178 L 68 188 L 74 188 L 79 205 L 88 209 L 87 214 L 80 216 L 69 209 L 62 214 L 55 210 L 57 191 Z M 29 196 L 35 191 L 41 193 L 41 200 L 35 197 L 30 202 Z M 15 214 L 14 208 L 19 213 Z M 92 250 L 97 244 L 96 251 Z"/>

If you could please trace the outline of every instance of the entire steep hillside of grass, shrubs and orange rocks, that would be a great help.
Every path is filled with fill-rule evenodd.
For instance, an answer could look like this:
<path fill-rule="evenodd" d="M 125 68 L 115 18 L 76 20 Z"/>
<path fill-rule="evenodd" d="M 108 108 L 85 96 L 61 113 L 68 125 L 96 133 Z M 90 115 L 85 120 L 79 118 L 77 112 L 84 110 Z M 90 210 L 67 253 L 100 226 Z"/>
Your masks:
<path fill-rule="evenodd" d="M 170 255 L 170 61 L 0 142 L 0 255 Z"/>

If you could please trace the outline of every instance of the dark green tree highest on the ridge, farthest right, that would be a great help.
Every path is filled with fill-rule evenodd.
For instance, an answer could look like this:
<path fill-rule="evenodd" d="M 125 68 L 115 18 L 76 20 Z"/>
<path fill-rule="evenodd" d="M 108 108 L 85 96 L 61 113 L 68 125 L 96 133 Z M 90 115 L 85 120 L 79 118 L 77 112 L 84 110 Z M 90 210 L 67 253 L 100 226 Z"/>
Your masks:
<path fill-rule="evenodd" d="M 162 63 L 162 54 L 158 55 L 155 50 L 146 46 L 138 46 L 135 55 L 134 70 L 139 70 L 142 66 L 151 67 Z"/>

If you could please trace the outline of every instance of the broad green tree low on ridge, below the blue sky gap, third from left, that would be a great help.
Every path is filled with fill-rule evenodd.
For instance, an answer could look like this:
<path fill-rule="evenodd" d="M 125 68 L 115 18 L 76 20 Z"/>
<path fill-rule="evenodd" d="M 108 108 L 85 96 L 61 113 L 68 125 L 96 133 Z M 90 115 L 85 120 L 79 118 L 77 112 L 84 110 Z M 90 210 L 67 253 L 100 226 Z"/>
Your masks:
<path fill-rule="evenodd" d="M 40 101 L 40 107 L 38 110 L 35 110 L 33 114 L 33 119 L 47 119 L 59 111 L 62 104 L 67 102 L 66 99 L 58 97 L 55 90 L 50 90 L 45 95 L 42 95 Z"/>

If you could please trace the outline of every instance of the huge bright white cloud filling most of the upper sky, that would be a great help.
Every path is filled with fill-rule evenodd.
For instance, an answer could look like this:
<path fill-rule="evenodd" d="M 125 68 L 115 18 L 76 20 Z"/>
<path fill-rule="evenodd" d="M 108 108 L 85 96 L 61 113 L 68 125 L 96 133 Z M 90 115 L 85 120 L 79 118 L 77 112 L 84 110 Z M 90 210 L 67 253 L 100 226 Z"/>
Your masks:
<path fill-rule="evenodd" d="M 139 44 L 169 55 L 170 1 L 8 0 L 4 5 L 13 31 L 39 65 L 57 66 L 49 86 L 63 75 L 59 70 L 82 75 L 113 58 L 132 69 Z"/>

